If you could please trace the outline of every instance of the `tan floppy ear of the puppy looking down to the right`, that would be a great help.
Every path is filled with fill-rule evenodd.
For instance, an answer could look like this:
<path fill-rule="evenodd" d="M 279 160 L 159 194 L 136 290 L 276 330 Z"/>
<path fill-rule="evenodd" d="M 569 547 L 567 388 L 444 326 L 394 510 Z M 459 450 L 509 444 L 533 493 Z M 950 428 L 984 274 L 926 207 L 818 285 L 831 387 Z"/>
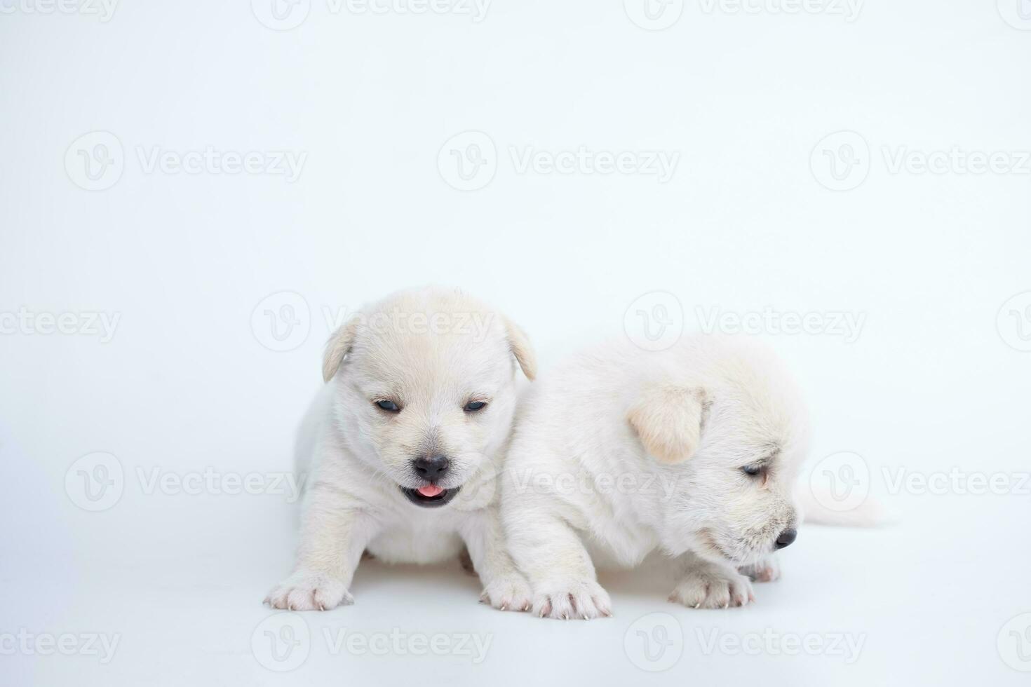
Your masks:
<path fill-rule="evenodd" d="M 627 419 L 648 453 L 663 462 L 683 462 L 698 450 L 707 406 L 702 389 L 655 385 L 644 388 Z"/>

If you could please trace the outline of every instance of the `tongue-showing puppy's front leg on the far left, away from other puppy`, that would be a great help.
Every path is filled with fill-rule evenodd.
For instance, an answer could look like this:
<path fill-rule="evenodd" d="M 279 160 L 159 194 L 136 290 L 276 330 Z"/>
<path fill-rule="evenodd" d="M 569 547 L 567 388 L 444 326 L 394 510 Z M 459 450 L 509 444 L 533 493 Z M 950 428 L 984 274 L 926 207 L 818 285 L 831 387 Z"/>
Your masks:
<path fill-rule="evenodd" d="M 328 611 L 351 605 L 347 591 L 375 523 L 339 491 L 315 485 L 301 521 L 301 545 L 294 573 L 268 593 L 274 609 Z"/>

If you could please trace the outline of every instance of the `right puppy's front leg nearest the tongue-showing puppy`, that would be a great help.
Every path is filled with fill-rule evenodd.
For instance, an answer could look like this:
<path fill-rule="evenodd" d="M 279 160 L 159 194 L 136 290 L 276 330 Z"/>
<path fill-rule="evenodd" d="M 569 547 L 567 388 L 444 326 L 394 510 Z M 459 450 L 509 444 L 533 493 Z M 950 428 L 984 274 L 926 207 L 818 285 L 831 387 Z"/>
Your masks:
<path fill-rule="evenodd" d="M 533 586 L 533 612 L 541 618 L 612 615 L 612 602 L 598 584 L 579 536 L 558 516 L 523 515 L 508 522 L 512 559 Z"/>

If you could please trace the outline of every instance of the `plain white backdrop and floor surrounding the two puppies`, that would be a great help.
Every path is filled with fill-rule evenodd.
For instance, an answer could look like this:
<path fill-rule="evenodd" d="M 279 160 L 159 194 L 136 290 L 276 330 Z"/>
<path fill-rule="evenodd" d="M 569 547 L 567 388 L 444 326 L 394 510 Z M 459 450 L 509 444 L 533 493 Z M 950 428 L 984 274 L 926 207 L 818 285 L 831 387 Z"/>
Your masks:
<path fill-rule="evenodd" d="M 125 0 L 97 15 L 0 0 L 0 634 L 119 636 L 106 663 L 0 644 L 4 684 L 1026 682 L 1016 652 L 1031 659 L 1031 620 L 1010 621 L 1031 611 L 1031 495 L 1017 486 L 1031 469 L 1031 21 L 1017 0 L 865 2 L 858 15 L 829 0 L 793 13 L 674 0 L 653 6 L 657 24 L 632 0 L 496 0 L 478 22 L 302 0 L 289 30 L 259 20 L 276 26 L 269 3 Z M 481 187 L 459 191 L 452 150 L 475 157 L 463 146 L 484 139 L 445 143 L 467 131 L 494 151 L 480 148 Z M 826 139 L 841 131 L 855 133 Z M 293 180 L 145 164 L 208 146 L 305 157 Z M 665 181 L 519 166 L 528 148 L 580 146 L 678 158 Z M 1001 151 L 1007 171 L 894 165 L 953 148 Z M 91 181 L 82 153 L 114 164 Z M 321 383 L 324 309 L 425 283 L 506 311 L 545 373 L 579 342 L 623 335 L 653 291 L 675 296 L 666 319 L 685 331 L 701 328 L 698 308 L 861 317 L 850 342 L 830 327 L 758 336 L 805 389 L 812 462 L 858 453 L 897 524 L 803 527 L 784 579 L 745 609 L 678 608 L 662 575 L 606 575 L 616 616 L 590 623 L 477 605 L 457 562 L 367 563 L 356 606 L 303 616 L 304 662 L 267 669 L 252 634 L 258 646 L 261 599 L 292 564 L 292 506 L 146 493 L 138 471 L 289 471 Z M 264 311 L 284 304 L 299 304 L 300 329 L 276 351 Z M 102 341 L 45 334 L 26 313 L 119 319 Z M 89 512 L 65 478 L 97 451 L 125 483 Z M 884 472 L 954 468 L 1011 488 L 892 493 Z M 654 612 L 683 631 L 666 636 L 675 662 L 661 673 L 636 632 L 662 639 L 663 618 L 633 625 Z M 333 655 L 324 628 L 492 643 L 478 664 Z M 863 644 L 851 663 L 706 653 L 698 632 L 713 630 Z"/>

